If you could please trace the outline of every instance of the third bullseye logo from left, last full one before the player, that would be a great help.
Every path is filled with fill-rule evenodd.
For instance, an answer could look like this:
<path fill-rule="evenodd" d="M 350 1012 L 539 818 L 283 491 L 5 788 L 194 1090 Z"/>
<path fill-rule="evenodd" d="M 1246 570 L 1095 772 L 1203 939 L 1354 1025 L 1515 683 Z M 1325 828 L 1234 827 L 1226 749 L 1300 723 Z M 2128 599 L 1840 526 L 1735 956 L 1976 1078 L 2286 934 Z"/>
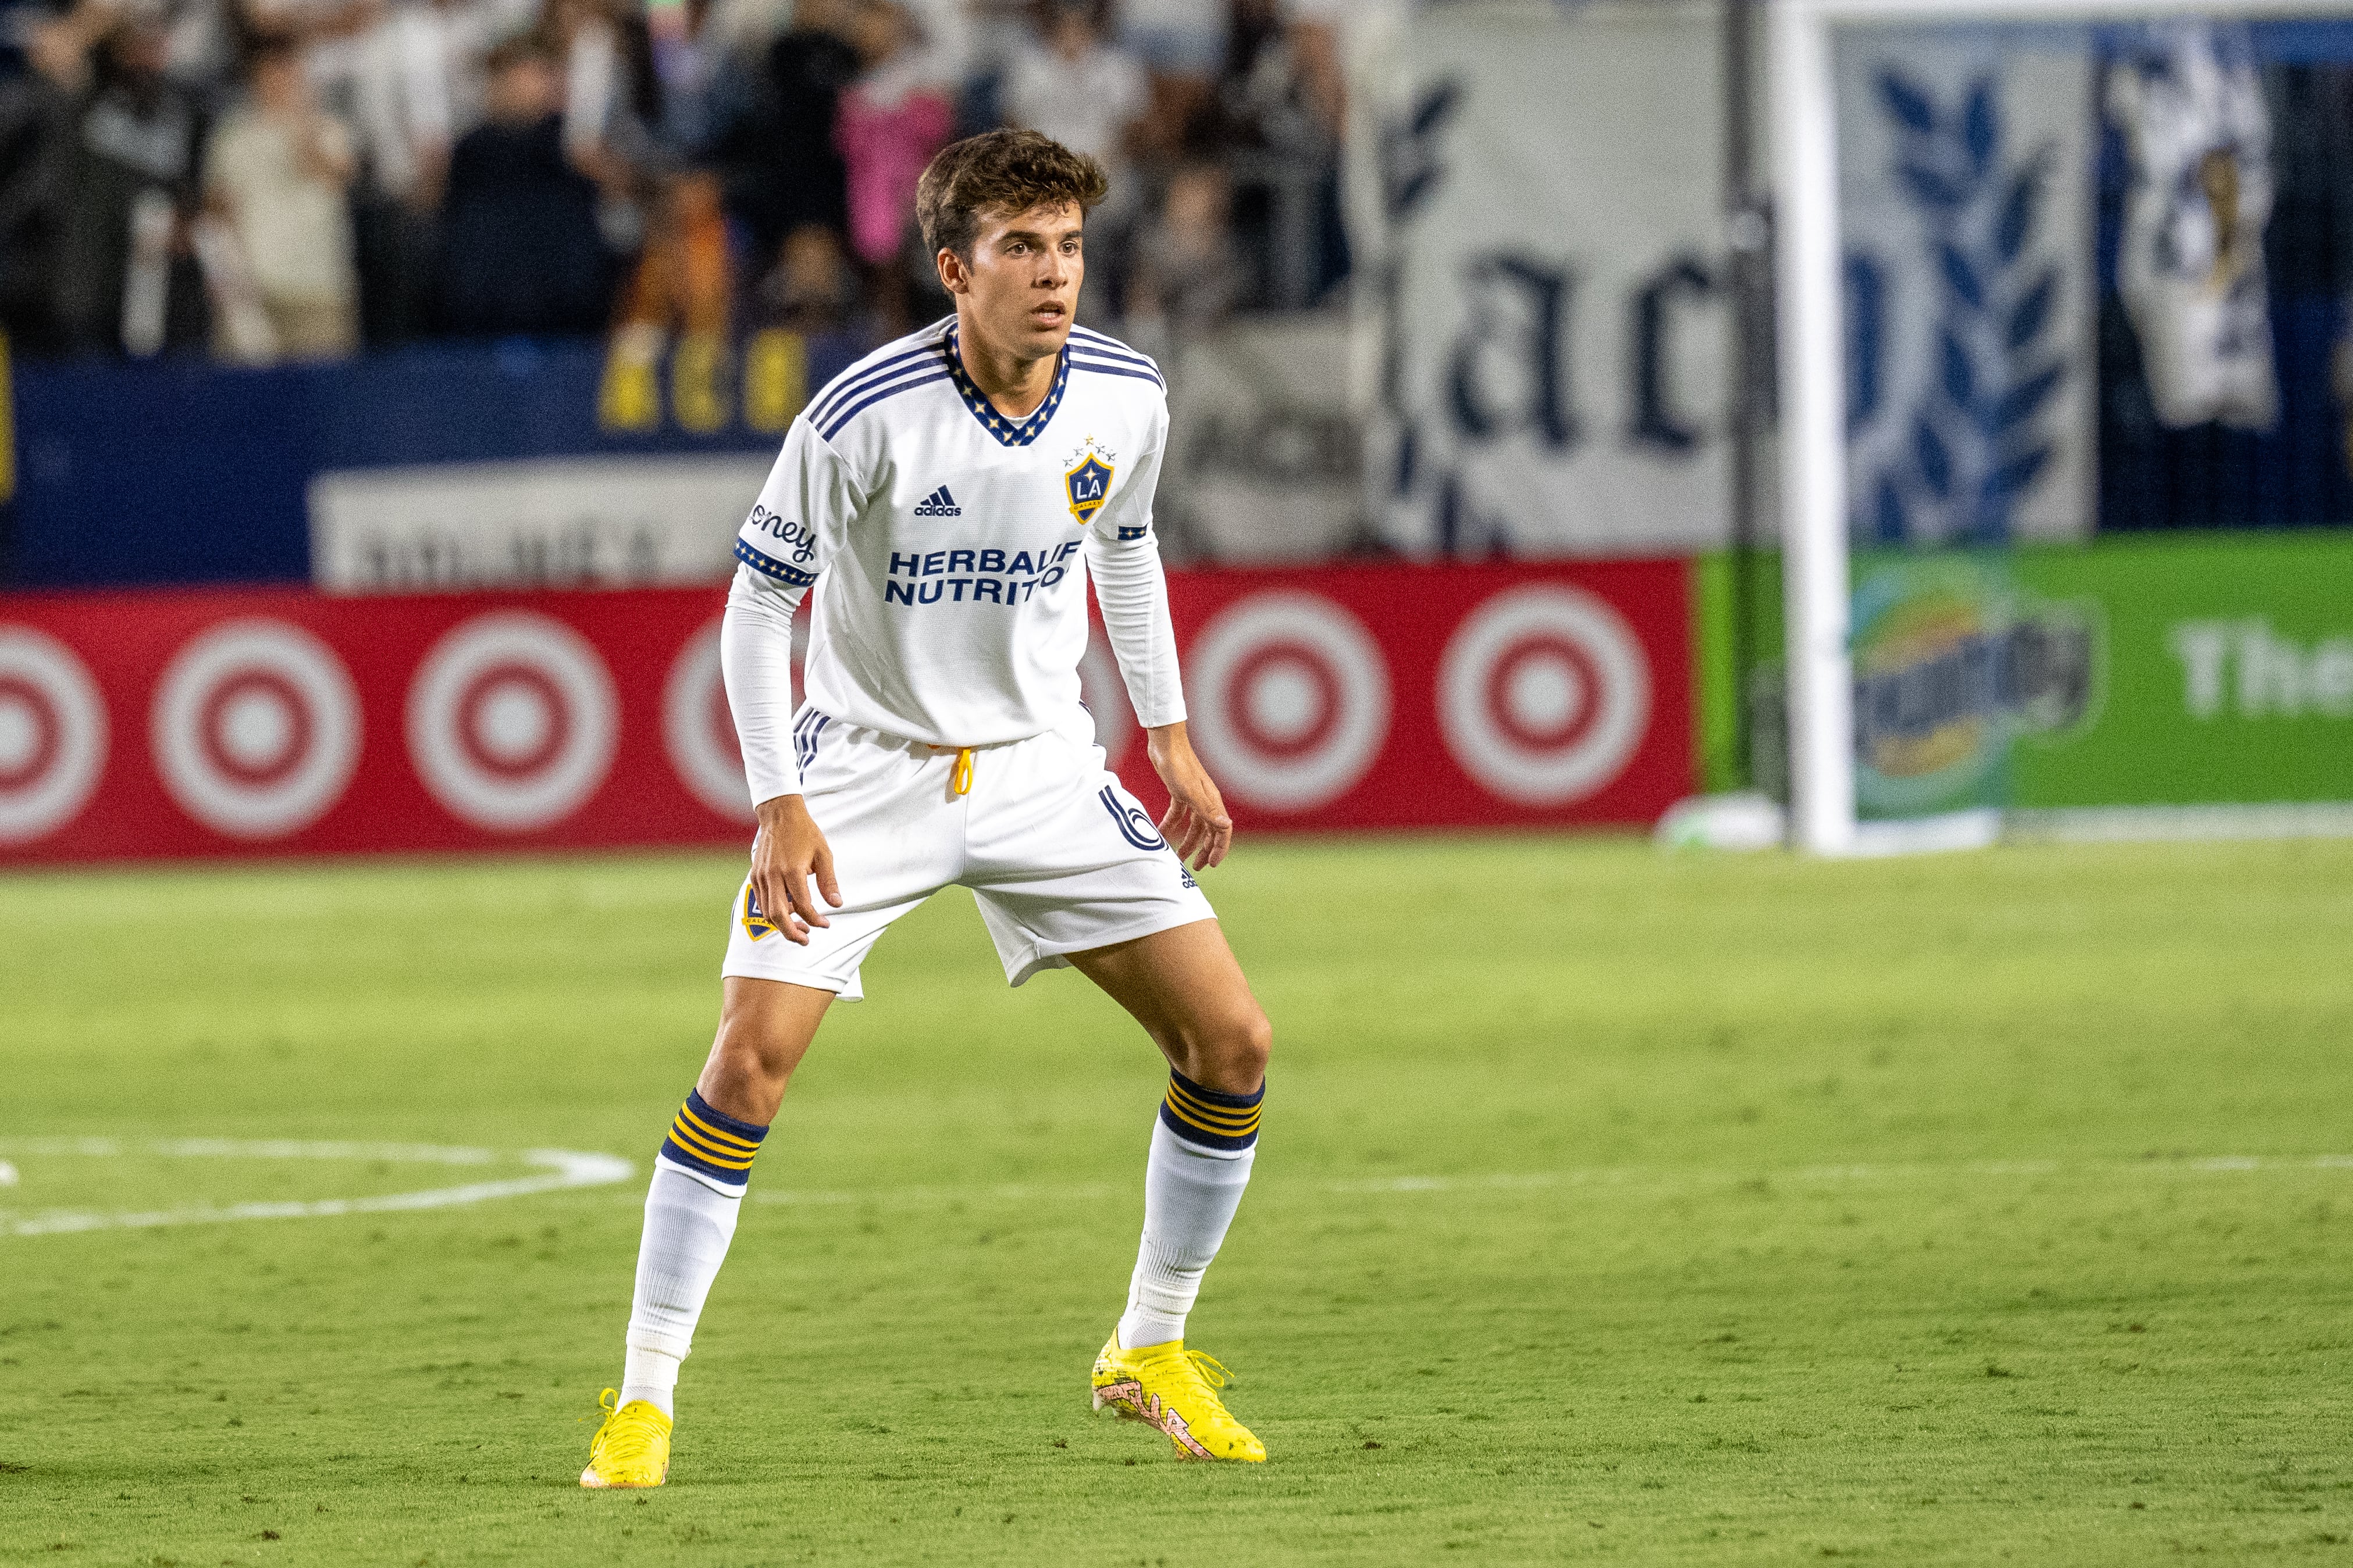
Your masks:
<path fill-rule="evenodd" d="M 586 804 L 619 741 L 612 675 L 588 639 L 529 611 L 447 632 L 409 686 L 409 757 L 475 827 L 532 832 Z"/>

